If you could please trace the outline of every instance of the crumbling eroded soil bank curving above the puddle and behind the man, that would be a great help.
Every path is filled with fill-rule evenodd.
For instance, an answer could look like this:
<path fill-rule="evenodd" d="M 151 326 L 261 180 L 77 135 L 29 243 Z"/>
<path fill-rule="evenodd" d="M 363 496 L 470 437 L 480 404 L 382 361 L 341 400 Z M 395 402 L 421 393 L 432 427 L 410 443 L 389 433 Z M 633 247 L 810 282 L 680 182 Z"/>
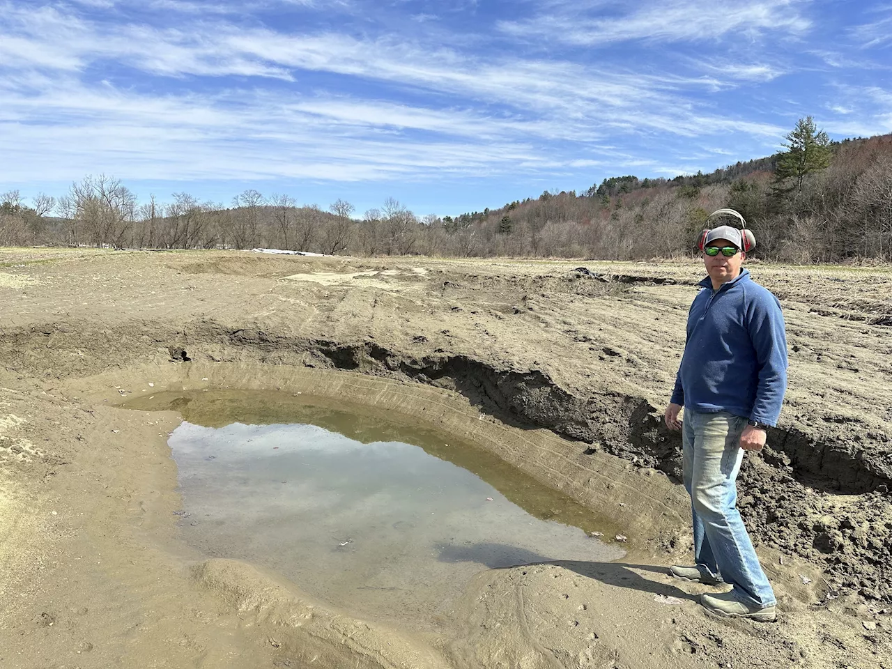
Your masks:
<path fill-rule="evenodd" d="M 76 372 L 78 359 L 72 361 L 66 351 L 105 342 L 116 349 L 115 359 L 131 364 L 138 364 L 141 357 L 153 358 L 160 348 L 165 356 L 169 353 L 169 361 L 185 365 L 190 364 L 186 359 L 255 359 L 272 367 L 299 365 L 408 380 L 458 392 L 506 425 L 545 428 L 575 440 L 583 457 L 607 453 L 633 467 L 670 475 L 676 482 L 681 474 L 680 439 L 665 429 L 650 402 L 619 392 L 567 392 L 541 370 L 499 368 L 448 351 L 417 357 L 371 340 L 343 343 L 253 327 L 230 329 L 211 320 L 178 333 L 153 332 L 149 324 L 142 329 L 145 334 L 140 338 L 132 330 L 120 335 L 109 329 L 82 333 L 36 326 L 11 333 L 4 344 L 12 350 L 13 366 L 16 358 L 39 355 L 48 374 L 54 374 L 54 356 L 64 358 L 64 365 Z M 58 364 L 61 368 L 62 362 Z M 889 438 L 867 436 L 878 443 Z M 887 539 L 892 530 L 888 526 L 892 462 L 864 457 L 857 441 L 822 442 L 795 427 L 772 429 L 769 443 L 761 456 L 747 458 L 740 474 L 739 508 L 756 541 L 822 565 L 830 590 L 892 599 L 892 548 Z M 847 503 L 838 505 L 828 496 Z M 838 517 L 828 521 L 827 516 Z M 673 532 L 655 536 L 651 543 L 668 550 L 681 548 Z"/>

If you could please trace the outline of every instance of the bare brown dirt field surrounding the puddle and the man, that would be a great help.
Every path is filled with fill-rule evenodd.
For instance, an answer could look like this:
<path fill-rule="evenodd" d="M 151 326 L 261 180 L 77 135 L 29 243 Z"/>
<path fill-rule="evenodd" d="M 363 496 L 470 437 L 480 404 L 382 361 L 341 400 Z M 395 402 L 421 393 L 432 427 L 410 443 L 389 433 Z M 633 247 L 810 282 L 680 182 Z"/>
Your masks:
<path fill-rule="evenodd" d="M 739 480 L 777 624 L 714 619 L 665 575 L 690 550 L 660 418 L 697 264 L 0 250 L 0 666 L 889 669 L 892 270 L 749 268 L 789 337 L 780 425 Z M 437 425 L 627 553 L 481 566 L 425 629 L 314 601 L 178 538 L 179 417 L 115 405 L 205 388 Z"/>

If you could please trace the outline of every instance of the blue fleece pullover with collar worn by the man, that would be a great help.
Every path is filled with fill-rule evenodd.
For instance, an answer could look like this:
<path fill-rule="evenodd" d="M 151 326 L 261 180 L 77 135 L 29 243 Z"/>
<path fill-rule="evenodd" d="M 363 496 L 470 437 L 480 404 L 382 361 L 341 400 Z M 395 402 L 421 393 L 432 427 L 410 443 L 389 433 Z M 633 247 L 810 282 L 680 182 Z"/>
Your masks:
<path fill-rule="evenodd" d="M 706 277 L 690 305 L 688 337 L 672 401 L 777 425 L 787 390 L 787 335 L 780 302 L 743 269 L 713 290 Z"/>

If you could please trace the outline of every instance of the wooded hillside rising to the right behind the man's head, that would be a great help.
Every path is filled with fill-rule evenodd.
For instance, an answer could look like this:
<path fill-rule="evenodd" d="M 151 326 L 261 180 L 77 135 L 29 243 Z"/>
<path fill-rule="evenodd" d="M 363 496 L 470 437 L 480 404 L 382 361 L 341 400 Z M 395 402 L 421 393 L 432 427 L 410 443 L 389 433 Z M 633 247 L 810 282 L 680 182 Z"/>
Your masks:
<path fill-rule="evenodd" d="M 781 153 L 668 180 L 608 178 L 443 227 L 451 248 L 471 255 L 635 260 L 690 254 L 708 214 L 731 207 L 754 229 L 758 257 L 892 260 L 892 135 L 826 149 L 812 169 Z"/>

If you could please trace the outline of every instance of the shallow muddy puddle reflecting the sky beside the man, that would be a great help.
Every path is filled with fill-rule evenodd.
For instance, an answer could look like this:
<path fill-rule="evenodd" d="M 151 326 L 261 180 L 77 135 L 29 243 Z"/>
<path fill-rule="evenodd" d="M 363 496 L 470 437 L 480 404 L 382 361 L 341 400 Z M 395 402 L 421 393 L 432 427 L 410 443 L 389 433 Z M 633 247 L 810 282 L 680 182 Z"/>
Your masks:
<path fill-rule="evenodd" d="M 335 607 L 418 629 L 486 568 L 603 561 L 591 510 L 473 443 L 368 408 L 278 392 L 157 393 L 183 539 L 275 570 Z M 609 534 L 608 534 L 609 536 Z"/>

